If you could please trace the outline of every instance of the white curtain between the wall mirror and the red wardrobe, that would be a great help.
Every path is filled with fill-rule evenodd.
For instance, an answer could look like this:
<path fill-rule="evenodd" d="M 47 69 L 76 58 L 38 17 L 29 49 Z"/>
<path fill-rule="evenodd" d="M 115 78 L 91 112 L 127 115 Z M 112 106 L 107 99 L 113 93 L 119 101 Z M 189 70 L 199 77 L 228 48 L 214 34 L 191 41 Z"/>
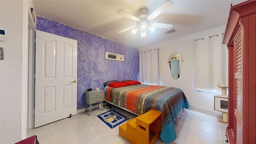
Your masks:
<path fill-rule="evenodd" d="M 222 33 L 218 33 L 218 36 L 204 36 L 204 40 L 195 42 L 195 90 L 221 93 L 218 85 L 225 85 L 227 58 L 222 39 Z"/>

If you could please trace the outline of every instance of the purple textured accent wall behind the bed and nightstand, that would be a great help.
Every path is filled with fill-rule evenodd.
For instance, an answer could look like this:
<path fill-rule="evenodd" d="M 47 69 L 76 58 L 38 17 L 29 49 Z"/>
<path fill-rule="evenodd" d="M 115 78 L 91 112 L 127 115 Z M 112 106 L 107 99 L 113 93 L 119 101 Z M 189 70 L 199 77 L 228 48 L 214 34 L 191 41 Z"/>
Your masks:
<path fill-rule="evenodd" d="M 36 29 L 78 41 L 77 110 L 85 108 L 84 92 L 94 78 L 109 80 L 139 79 L 139 50 L 94 34 L 37 16 Z M 124 62 L 106 60 L 105 52 L 124 55 Z M 104 86 L 100 88 L 104 90 Z"/>

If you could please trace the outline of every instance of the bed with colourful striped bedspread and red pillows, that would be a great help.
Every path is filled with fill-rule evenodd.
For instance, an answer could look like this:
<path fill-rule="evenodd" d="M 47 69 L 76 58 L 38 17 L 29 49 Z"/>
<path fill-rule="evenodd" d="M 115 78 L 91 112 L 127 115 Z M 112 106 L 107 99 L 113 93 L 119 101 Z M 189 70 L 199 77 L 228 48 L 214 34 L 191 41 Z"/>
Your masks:
<path fill-rule="evenodd" d="M 115 83 L 115 84 L 113 84 Z M 180 116 L 184 108 L 188 108 L 188 100 L 182 90 L 167 86 L 140 84 L 138 81 L 116 80 L 104 83 L 105 101 L 140 115 L 150 109 L 162 112 L 160 138 L 164 143 L 176 139 L 175 118 Z"/>

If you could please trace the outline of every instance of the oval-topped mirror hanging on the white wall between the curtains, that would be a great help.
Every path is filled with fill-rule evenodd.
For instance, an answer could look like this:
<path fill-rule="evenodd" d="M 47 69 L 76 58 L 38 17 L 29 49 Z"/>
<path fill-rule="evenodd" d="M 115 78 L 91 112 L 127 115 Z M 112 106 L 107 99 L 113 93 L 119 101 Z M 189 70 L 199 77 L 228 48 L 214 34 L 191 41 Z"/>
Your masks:
<path fill-rule="evenodd" d="M 174 80 L 180 78 L 181 62 L 183 62 L 183 60 L 180 54 L 174 53 L 170 55 L 168 63 Z"/>

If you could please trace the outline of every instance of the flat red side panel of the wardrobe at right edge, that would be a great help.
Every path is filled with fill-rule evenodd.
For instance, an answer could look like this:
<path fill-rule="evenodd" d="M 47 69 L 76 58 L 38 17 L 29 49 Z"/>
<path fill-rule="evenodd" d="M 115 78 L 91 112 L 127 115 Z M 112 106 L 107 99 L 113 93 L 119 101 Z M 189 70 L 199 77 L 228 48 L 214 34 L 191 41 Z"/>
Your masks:
<path fill-rule="evenodd" d="M 248 143 L 256 144 L 256 14 L 251 14 L 249 19 L 249 33 L 248 33 L 248 64 L 249 64 L 249 89 L 248 89 Z"/>

